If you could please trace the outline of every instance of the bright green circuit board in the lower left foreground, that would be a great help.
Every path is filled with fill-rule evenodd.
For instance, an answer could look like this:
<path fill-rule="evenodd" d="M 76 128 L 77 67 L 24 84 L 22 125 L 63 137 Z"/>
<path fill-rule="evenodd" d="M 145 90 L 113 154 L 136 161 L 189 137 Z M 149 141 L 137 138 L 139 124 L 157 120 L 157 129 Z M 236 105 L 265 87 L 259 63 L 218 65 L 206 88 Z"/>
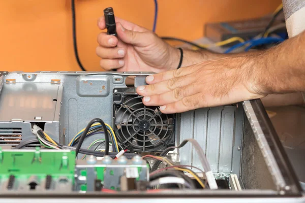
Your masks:
<path fill-rule="evenodd" d="M 73 180 L 75 151 L 70 150 L 2 150 L 0 147 L 0 177 L 45 178 L 65 176 Z"/>

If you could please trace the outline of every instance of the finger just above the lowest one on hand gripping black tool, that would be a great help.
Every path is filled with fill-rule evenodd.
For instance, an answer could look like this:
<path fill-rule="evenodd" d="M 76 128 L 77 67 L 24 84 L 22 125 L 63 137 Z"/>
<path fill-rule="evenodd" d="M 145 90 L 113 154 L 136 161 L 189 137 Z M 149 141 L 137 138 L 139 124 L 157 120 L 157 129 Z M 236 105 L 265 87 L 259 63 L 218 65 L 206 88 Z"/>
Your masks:
<path fill-rule="evenodd" d="M 126 54 L 126 51 L 124 48 L 121 47 L 105 48 L 98 46 L 96 48 L 96 53 L 101 58 L 114 59 L 114 58 L 123 58 Z"/>

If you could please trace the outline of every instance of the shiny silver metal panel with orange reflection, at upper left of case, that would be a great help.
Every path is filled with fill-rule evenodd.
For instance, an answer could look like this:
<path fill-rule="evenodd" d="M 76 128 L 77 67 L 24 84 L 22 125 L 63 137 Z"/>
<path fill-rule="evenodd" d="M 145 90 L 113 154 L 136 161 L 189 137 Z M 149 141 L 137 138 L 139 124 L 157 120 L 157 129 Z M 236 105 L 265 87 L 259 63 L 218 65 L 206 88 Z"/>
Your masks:
<path fill-rule="evenodd" d="M 58 90 L 61 88 L 62 85 L 51 83 L 5 83 L 0 94 L 0 120 L 54 121 L 56 104 L 60 102 Z"/>

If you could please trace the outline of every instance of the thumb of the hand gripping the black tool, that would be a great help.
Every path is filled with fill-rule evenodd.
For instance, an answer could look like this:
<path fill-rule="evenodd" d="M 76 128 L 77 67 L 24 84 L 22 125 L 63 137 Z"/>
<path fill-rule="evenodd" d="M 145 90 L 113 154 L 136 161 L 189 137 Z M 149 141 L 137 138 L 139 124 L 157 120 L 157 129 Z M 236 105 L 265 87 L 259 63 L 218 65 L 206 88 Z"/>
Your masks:
<path fill-rule="evenodd" d="M 139 47 L 147 46 L 149 39 L 154 37 L 152 32 L 138 32 L 126 29 L 120 22 L 116 23 L 116 33 L 121 41 Z"/>

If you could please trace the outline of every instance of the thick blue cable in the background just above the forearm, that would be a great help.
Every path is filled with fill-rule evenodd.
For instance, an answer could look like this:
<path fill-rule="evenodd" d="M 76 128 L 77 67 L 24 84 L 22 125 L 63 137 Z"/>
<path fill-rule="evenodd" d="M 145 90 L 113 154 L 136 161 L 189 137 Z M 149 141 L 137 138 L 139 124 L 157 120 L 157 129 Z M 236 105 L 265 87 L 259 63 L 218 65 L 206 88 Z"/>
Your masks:
<path fill-rule="evenodd" d="M 227 49 L 224 53 L 230 53 L 231 51 L 242 47 L 243 45 L 246 45 L 250 43 L 250 46 L 248 46 L 245 51 L 249 51 L 252 47 L 257 46 L 257 45 L 263 45 L 263 44 L 270 44 L 270 43 L 277 43 L 277 42 L 283 42 L 284 39 L 282 38 L 273 38 L 273 37 L 267 37 L 267 38 L 260 38 L 260 39 L 252 39 L 248 40 L 246 42 L 238 43 L 229 49 Z"/>

